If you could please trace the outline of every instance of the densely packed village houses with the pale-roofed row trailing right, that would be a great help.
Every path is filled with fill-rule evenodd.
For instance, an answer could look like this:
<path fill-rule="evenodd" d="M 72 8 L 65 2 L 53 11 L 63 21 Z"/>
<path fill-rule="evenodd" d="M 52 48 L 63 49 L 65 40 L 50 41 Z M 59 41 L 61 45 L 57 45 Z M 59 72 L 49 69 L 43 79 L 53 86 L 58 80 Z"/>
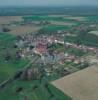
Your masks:
<path fill-rule="evenodd" d="M 52 44 L 63 44 L 64 48 L 75 48 L 79 49 L 83 52 L 97 52 L 97 48 L 85 46 L 85 45 L 77 45 L 74 43 L 64 42 L 64 37 L 62 35 L 40 35 L 36 36 L 34 34 L 26 34 L 18 37 L 18 41 L 15 43 L 20 49 L 21 57 L 33 56 L 33 54 L 38 54 L 41 56 L 39 63 L 53 63 L 59 61 L 60 59 L 66 57 L 66 61 L 75 61 L 81 62 L 81 60 L 77 60 L 76 55 L 64 55 L 64 51 L 57 52 L 49 51 L 48 47 Z"/>

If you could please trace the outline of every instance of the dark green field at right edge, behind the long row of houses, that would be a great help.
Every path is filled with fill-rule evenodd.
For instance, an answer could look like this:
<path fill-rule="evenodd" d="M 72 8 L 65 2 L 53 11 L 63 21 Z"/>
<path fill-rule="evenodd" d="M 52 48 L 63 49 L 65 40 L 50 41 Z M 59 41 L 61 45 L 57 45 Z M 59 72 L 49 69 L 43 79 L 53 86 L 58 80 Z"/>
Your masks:
<path fill-rule="evenodd" d="M 90 33 L 79 33 L 76 37 L 66 36 L 65 41 L 87 46 L 98 46 L 98 36 Z"/>

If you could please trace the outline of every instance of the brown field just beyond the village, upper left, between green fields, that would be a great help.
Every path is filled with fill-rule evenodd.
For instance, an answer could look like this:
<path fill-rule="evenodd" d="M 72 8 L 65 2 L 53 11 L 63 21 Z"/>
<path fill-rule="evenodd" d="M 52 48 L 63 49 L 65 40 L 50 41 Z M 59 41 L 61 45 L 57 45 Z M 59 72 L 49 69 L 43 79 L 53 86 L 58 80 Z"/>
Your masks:
<path fill-rule="evenodd" d="M 31 32 L 36 32 L 41 27 L 24 25 L 24 26 L 9 26 L 8 28 L 11 29 L 9 33 L 14 35 L 20 35 L 20 34 L 28 34 Z"/>

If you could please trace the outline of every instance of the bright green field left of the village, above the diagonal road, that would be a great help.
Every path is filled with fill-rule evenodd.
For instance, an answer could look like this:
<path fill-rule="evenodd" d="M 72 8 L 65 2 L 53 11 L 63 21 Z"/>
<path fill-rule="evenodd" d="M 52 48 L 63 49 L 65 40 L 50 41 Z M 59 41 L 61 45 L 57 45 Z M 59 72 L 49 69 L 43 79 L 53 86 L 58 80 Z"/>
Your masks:
<path fill-rule="evenodd" d="M 0 33 L 0 83 L 28 63 L 28 60 L 25 59 L 19 61 L 15 59 L 15 52 L 17 51 L 13 47 L 15 39 L 13 35 Z M 11 61 L 6 62 L 5 57 L 8 51 L 11 55 Z"/>

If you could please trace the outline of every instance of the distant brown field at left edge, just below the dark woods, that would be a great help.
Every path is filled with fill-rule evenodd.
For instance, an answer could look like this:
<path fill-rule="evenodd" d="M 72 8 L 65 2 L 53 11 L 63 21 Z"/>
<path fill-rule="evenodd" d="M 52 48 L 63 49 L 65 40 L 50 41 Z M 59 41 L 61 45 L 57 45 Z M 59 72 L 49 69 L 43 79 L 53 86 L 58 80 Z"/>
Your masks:
<path fill-rule="evenodd" d="M 22 21 L 21 16 L 2 16 L 0 17 L 0 24 L 9 24 L 11 21 Z"/>

